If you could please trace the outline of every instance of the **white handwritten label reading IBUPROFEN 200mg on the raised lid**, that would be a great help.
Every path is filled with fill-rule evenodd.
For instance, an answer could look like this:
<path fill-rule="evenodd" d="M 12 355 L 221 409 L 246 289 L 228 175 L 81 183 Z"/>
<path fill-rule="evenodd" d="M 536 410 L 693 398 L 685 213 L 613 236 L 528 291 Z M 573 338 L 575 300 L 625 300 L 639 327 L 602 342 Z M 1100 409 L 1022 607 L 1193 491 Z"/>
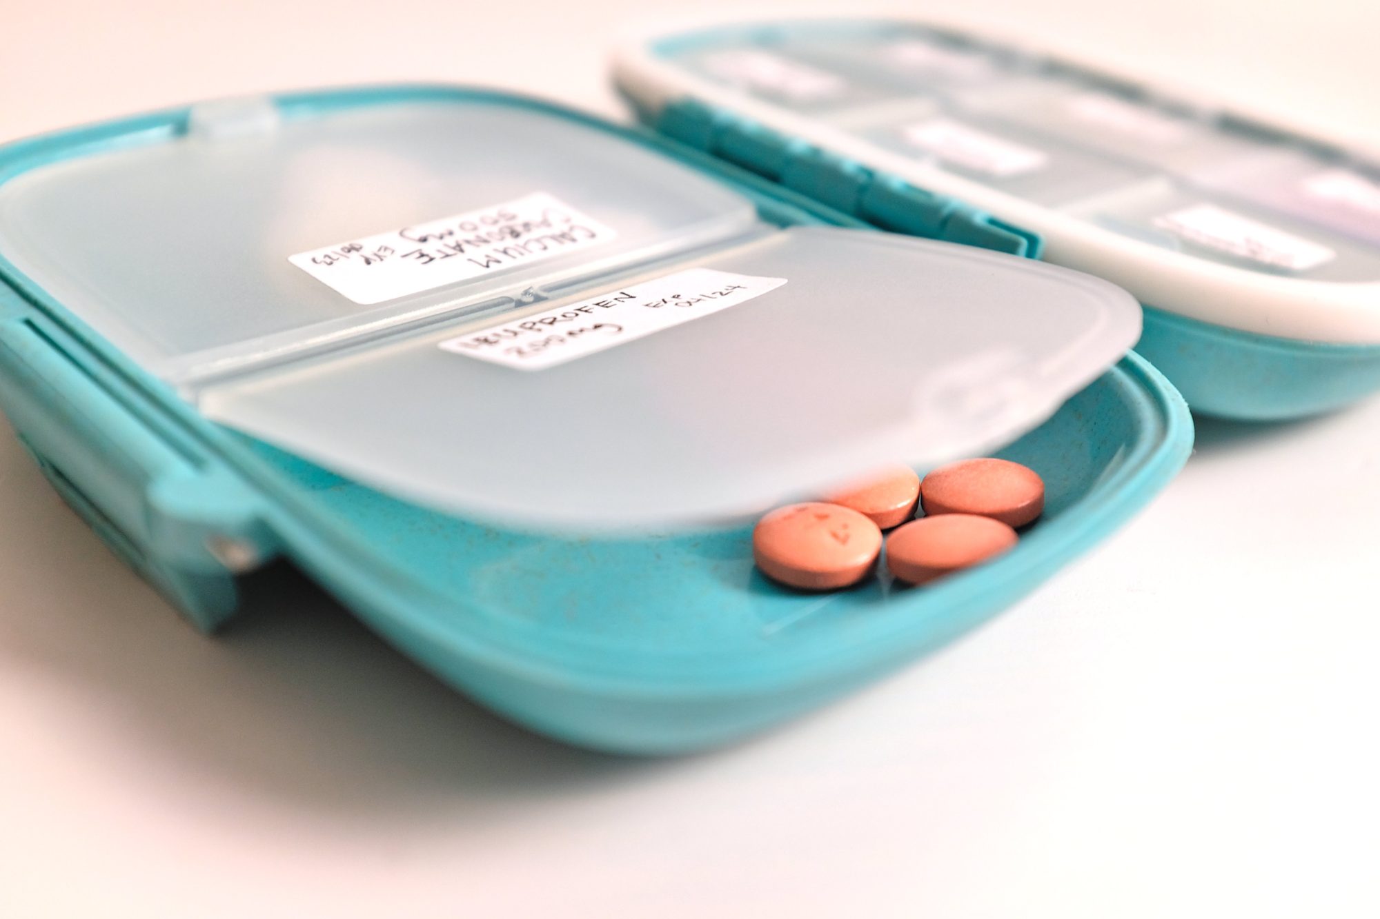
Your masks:
<path fill-rule="evenodd" d="M 545 370 L 760 297 L 784 277 L 690 268 L 440 342 L 518 370 Z"/>

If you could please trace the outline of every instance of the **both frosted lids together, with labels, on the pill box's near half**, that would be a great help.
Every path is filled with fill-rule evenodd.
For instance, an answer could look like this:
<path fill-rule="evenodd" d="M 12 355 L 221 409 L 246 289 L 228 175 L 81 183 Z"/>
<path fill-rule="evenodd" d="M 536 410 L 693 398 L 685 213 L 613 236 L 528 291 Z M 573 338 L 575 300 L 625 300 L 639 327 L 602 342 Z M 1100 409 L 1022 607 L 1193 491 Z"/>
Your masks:
<path fill-rule="evenodd" d="M 1104 281 L 776 226 L 518 102 L 250 105 L 116 146 L 0 186 L 0 253 L 207 417 L 505 524 L 737 520 L 981 454 L 1140 331 Z"/>

